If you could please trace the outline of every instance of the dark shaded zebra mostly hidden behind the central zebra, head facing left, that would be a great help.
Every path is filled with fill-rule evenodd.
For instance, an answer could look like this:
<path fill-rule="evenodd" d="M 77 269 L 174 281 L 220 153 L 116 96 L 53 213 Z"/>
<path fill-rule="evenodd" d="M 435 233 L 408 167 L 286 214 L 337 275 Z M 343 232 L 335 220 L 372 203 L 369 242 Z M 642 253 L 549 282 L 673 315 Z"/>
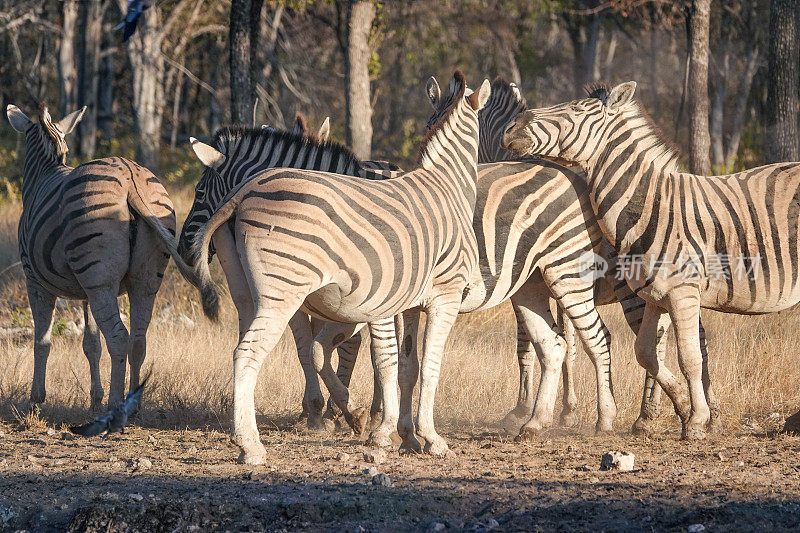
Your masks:
<path fill-rule="evenodd" d="M 320 170 L 338 174 L 361 176 L 365 179 L 383 179 L 381 171 L 396 170 L 397 167 L 383 162 L 360 162 L 349 150 L 334 148 L 327 143 L 330 123 L 326 118 L 316 134 L 309 134 L 305 118 L 297 114 L 291 131 L 282 131 L 268 126 L 261 129 L 228 127 L 222 128 L 214 135 L 213 146 L 192 140 L 192 149 L 200 161 L 212 167 L 220 156 L 225 157 L 225 165 L 219 168 L 220 179 L 198 183 L 195 199 L 183 224 L 178 250 L 184 260 L 193 264 L 194 258 L 189 253 L 198 229 L 205 224 L 221 205 L 223 198 L 234 188 L 263 170 L 269 168 L 299 168 Z M 233 246 L 233 234 L 228 226 L 220 227 L 213 238 L 213 249 Z M 229 254 L 219 256 L 220 264 L 229 280 L 229 290 L 239 317 L 239 334 L 247 330 L 253 316 L 253 302 L 246 286 L 237 285 L 238 263 L 227 262 Z M 231 273 L 233 272 L 233 273 Z M 324 419 L 332 418 L 336 412 L 332 402 L 328 402 L 327 416 L 323 418 L 325 401 L 319 386 L 317 371 L 311 358 L 311 346 L 314 337 L 322 328 L 322 321 L 309 322 L 307 313 L 298 312 L 289 321 L 289 327 L 297 346 L 297 353 L 305 378 L 303 394 L 303 411 L 300 419 L 307 418 L 310 429 L 324 429 Z M 340 381 L 349 384 L 356 355 L 363 342 L 361 334 L 352 336 L 339 345 L 339 368 L 337 374 Z M 376 392 L 379 390 L 376 385 Z M 380 396 L 376 396 L 379 400 Z M 367 415 L 376 415 L 377 409 L 370 413 L 359 411 L 357 426 L 364 423 Z M 356 428 L 357 432 L 359 428 Z"/>

